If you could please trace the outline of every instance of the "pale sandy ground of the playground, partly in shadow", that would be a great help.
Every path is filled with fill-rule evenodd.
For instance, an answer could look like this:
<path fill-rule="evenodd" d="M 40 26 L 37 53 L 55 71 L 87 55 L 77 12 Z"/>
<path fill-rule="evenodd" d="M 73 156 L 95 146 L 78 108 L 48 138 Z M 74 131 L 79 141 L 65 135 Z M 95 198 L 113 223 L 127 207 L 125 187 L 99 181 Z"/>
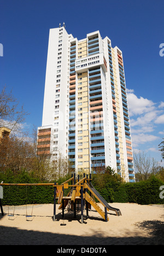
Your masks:
<path fill-rule="evenodd" d="M 8 216 L 8 206 L 4 206 L 4 216 L 0 213 L 0 245 L 164 245 L 164 205 L 110 205 L 119 208 L 122 216 L 109 211 L 109 221 L 104 222 L 92 207 L 83 224 L 80 212 L 74 219 L 74 214 L 65 210 L 63 220 L 58 205 L 55 222 L 51 204 L 34 205 L 30 218 L 26 218 L 26 206 L 16 206 L 14 217 Z M 13 210 L 10 206 L 9 212 Z M 28 205 L 27 213 L 31 211 L 32 205 Z"/>

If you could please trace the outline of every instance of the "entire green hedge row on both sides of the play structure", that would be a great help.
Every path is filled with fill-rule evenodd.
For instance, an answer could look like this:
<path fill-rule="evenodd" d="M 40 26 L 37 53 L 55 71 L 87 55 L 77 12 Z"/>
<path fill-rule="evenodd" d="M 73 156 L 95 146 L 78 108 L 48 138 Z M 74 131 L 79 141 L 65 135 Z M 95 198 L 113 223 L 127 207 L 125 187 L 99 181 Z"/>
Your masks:
<path fill-rule="evenodd" d="M 67 180 L 69 177 L 66 177 Z M 122 183 L 118 176 L 110 174 L 93 175 L 92 184 L 107 202 L 133 202 L 140 205 L 163 204 L 160 187 L 164 183 L 156 177 L 137 183 Z M 0 172 L 0 183 L 39 183 L 26 171 L 14 176 L 10 171 Z M 62 181 L 57 181 L 61 184 Z M 43 182 L 42 182 L 43 183 Z M 53 183 L 53 182 L 52 182 Z M 3 187 L 3 205 L 26 205 L 53 203 L 54 188 L 51 186 Z"/>

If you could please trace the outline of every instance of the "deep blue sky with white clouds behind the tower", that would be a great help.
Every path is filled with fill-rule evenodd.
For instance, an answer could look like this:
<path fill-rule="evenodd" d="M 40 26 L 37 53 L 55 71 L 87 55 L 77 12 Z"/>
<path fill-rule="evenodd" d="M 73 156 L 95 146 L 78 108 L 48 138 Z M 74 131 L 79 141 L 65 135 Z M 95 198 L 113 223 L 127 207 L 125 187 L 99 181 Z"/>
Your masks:
<path fill-rule="evenodd" d="M 164 137 L 163 0 L 0 0 L 0 88 L 7 86 L 42 125 L 49 29 L 65 22 L 73 37 L 97 31 L 123 53 L 133 149 L 161 160 Z M 164 51 L 163 51 L 164 53 Z"/>

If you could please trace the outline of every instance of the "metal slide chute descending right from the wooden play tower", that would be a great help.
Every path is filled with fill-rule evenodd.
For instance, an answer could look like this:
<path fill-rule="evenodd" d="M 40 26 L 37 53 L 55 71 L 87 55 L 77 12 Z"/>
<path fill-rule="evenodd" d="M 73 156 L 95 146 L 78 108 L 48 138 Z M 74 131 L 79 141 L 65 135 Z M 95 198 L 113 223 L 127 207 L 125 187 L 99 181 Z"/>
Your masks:
<path fill-rule="evenodd" d="M 102 203 L 102 205 L 106 206 L 108 208 L 108 210 L 110 211 L 114 211 L 116 213 L 117 216 L 121 216 L 121 212 L 118 208 L 114 208 L 112 206 L 110 206 L 106 200 L 103 199 L 103 197 L 98 193 L 98 191 L 93 187 L 92 183 L 90 182 L 90 185 L 88 185 L 88 189 L 91 191 L 91 193 L 93 195 L 95 195 L 98 199 L 99 202 Z"/>

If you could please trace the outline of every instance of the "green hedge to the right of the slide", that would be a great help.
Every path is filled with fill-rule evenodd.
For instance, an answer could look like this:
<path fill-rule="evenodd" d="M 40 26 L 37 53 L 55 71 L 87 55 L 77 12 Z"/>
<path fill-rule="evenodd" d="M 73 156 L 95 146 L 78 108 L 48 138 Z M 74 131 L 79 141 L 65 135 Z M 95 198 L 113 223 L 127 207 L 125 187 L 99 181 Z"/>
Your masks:
<path fill-rule="evenodd" d="M 164 199 L 160 199 L 160 187 L 164 183 L 154 176 L 137 183 L 121 183 L 112 178 L 103 187 L 102 183 L 98 185 L 94 179 L 92 183 L 107 202 L 133 202 L 140 205 L 164 203 Z"/>

